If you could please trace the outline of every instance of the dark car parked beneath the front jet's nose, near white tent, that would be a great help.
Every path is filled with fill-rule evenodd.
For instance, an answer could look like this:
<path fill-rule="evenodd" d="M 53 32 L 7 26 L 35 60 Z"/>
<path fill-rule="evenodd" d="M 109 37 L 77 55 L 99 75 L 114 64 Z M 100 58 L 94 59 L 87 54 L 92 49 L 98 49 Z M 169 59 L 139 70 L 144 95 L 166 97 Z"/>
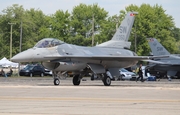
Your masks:
<path fill-rule="evenodd" d="M 19 71 L 20 76 L 35 76 L 39 75 L 41 77 L 44 76 L 44 68 L 41 65 L 27 65 L 25 68 Z"/>

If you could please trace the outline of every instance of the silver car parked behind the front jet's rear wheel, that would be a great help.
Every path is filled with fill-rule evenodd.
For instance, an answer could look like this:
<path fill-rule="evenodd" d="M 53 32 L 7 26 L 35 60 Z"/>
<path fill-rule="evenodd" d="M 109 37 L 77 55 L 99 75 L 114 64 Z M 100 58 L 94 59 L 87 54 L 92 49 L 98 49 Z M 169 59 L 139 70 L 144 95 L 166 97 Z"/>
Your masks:
<path fill-rule="evenodd" d="M 120 72 L 120 80 L 136 80 L 136 78 L 138 77 L 138 75 L 136 75 L 136 73 L 134 72 L 130 72 L 124 68 L 119 69 Z"/>

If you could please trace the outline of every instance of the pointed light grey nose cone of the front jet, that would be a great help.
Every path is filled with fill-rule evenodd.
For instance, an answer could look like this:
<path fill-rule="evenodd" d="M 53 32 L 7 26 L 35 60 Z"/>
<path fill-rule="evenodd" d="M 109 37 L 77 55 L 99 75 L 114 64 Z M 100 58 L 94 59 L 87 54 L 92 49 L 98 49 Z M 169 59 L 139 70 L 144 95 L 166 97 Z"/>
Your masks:
<path fill-rule="evenodd" d="M 11 58 L 13 62 L 30 62 L 33 59 L 33 53 L 30 50 L 23 51 Z"/>

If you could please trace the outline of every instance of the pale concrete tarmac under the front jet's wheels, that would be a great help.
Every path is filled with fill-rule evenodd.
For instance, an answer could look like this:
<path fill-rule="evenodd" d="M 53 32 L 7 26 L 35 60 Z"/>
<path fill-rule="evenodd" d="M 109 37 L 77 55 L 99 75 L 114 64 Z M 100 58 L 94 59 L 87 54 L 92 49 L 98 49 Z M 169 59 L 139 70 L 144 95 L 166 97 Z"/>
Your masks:
<path fill-rule="evenodd" d="M 180 81 L 81 81 L 0 78 L 0 115 L 179 115 Z"/>

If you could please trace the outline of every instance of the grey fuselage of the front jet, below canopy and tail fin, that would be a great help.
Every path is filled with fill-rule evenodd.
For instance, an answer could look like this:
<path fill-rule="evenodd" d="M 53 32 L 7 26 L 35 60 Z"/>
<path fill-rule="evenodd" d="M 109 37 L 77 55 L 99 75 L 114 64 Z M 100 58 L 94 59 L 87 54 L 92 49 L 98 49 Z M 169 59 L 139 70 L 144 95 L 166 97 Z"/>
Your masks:
<path fill-rule="evenodd" d="M 46 48 L 38 48 L 33 47 L 26 51 L 23 51 L 17 55 L 15 55 L 12 60 L 16 62 L 67 62 L 61 66 L 59 69 L 65 69 L 62 71 L 69 71 L 74 64 L 80 65 L 77 68 L 74 68 L 72 71 L 76 69 L 83 69 L 86 67 L 88 63 L 101 64 L 106 68 L 122 68 L 129 67 L 137 63 L 137 61 L 115 61 L 115 60 L 96 60 L 91 58 L 55 58 L 54 56 L 80 56 L 80 57 L 90 57 L 90 56 L 135 56 L 136 54 L 127 49 L 120 48 L 105 48 L 105 47 L 83 47 L 72 44 L 61 44 L 55 47 L 46 47 Z M 70 63 L 70 64 L 69 64 Z M 62 64 L 61 64 L 62 65 Z M 54 68 L 55 69 L 55 68 Z M 57 68 L 56 68 L 57 69 Z"/>

